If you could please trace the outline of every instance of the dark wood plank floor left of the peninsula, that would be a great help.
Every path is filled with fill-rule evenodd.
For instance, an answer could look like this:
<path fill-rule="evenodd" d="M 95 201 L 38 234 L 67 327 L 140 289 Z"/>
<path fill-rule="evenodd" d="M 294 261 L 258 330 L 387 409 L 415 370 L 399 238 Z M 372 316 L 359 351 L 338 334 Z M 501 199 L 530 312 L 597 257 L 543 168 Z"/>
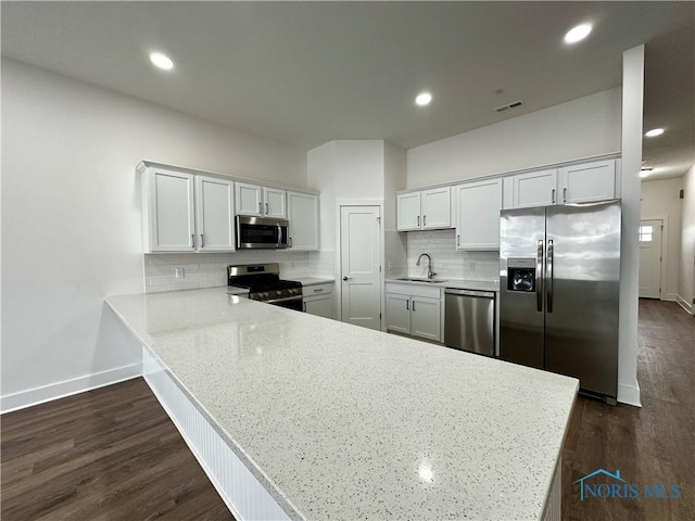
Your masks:
<path fill-rule="evenodd" d="M 231 520 L 142 379 L 2 416 L 2 521 Z"/>

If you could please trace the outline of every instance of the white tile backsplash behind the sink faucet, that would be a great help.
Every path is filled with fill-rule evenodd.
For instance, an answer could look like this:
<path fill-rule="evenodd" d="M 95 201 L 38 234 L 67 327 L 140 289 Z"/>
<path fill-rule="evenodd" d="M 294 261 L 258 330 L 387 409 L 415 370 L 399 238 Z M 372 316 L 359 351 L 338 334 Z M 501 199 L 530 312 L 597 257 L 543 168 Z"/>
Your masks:
<path fill-rule="evenodd" d="M 427 259 L 415 266 L 421 253 L 432 257 L 432 271 L 439 278 L 469 280 L 497 280 L 500 277 L 500 253 L 456 251 L 456 230 L 409 231 L 407 236 L 408 277 L 425 277 Z"/>

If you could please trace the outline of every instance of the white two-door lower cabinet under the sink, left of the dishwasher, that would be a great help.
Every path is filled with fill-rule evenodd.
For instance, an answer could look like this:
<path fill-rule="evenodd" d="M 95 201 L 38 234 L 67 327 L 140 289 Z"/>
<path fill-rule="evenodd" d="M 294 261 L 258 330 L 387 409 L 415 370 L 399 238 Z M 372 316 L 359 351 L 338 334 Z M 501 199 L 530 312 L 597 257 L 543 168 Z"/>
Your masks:
<path fill-rule="evenodd" d="M 442 290 L 419 284 L 388 283 L 387 331 L 442 342 Z"/>

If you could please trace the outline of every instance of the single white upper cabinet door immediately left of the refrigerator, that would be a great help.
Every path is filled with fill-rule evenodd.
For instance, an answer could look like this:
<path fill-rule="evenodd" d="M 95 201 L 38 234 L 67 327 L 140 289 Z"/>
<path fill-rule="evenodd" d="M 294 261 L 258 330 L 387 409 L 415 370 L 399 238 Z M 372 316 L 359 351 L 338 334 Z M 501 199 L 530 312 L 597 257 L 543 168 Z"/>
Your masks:
<path fill-rule="evenodd" d="M 500 249 L 502 179 L 467 182 L 456 187 L 458 221 L 457 250 Z"/>

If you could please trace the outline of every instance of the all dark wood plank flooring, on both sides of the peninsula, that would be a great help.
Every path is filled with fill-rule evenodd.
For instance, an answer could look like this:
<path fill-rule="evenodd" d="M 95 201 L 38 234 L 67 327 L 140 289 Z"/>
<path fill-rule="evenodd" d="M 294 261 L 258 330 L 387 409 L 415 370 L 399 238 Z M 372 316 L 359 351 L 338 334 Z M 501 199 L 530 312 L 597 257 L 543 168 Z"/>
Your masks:
<path fill-rule="evenodd" d="M 695 318 L 640 303 L 641 409 L 579 397 L 563 454 L 564 520 L 695 519 Z M 3 521 L 230 520 L 142 379 L 2 417 Z M 680 499 L 579 500 L 582 475 L 680 483 Z"/>

